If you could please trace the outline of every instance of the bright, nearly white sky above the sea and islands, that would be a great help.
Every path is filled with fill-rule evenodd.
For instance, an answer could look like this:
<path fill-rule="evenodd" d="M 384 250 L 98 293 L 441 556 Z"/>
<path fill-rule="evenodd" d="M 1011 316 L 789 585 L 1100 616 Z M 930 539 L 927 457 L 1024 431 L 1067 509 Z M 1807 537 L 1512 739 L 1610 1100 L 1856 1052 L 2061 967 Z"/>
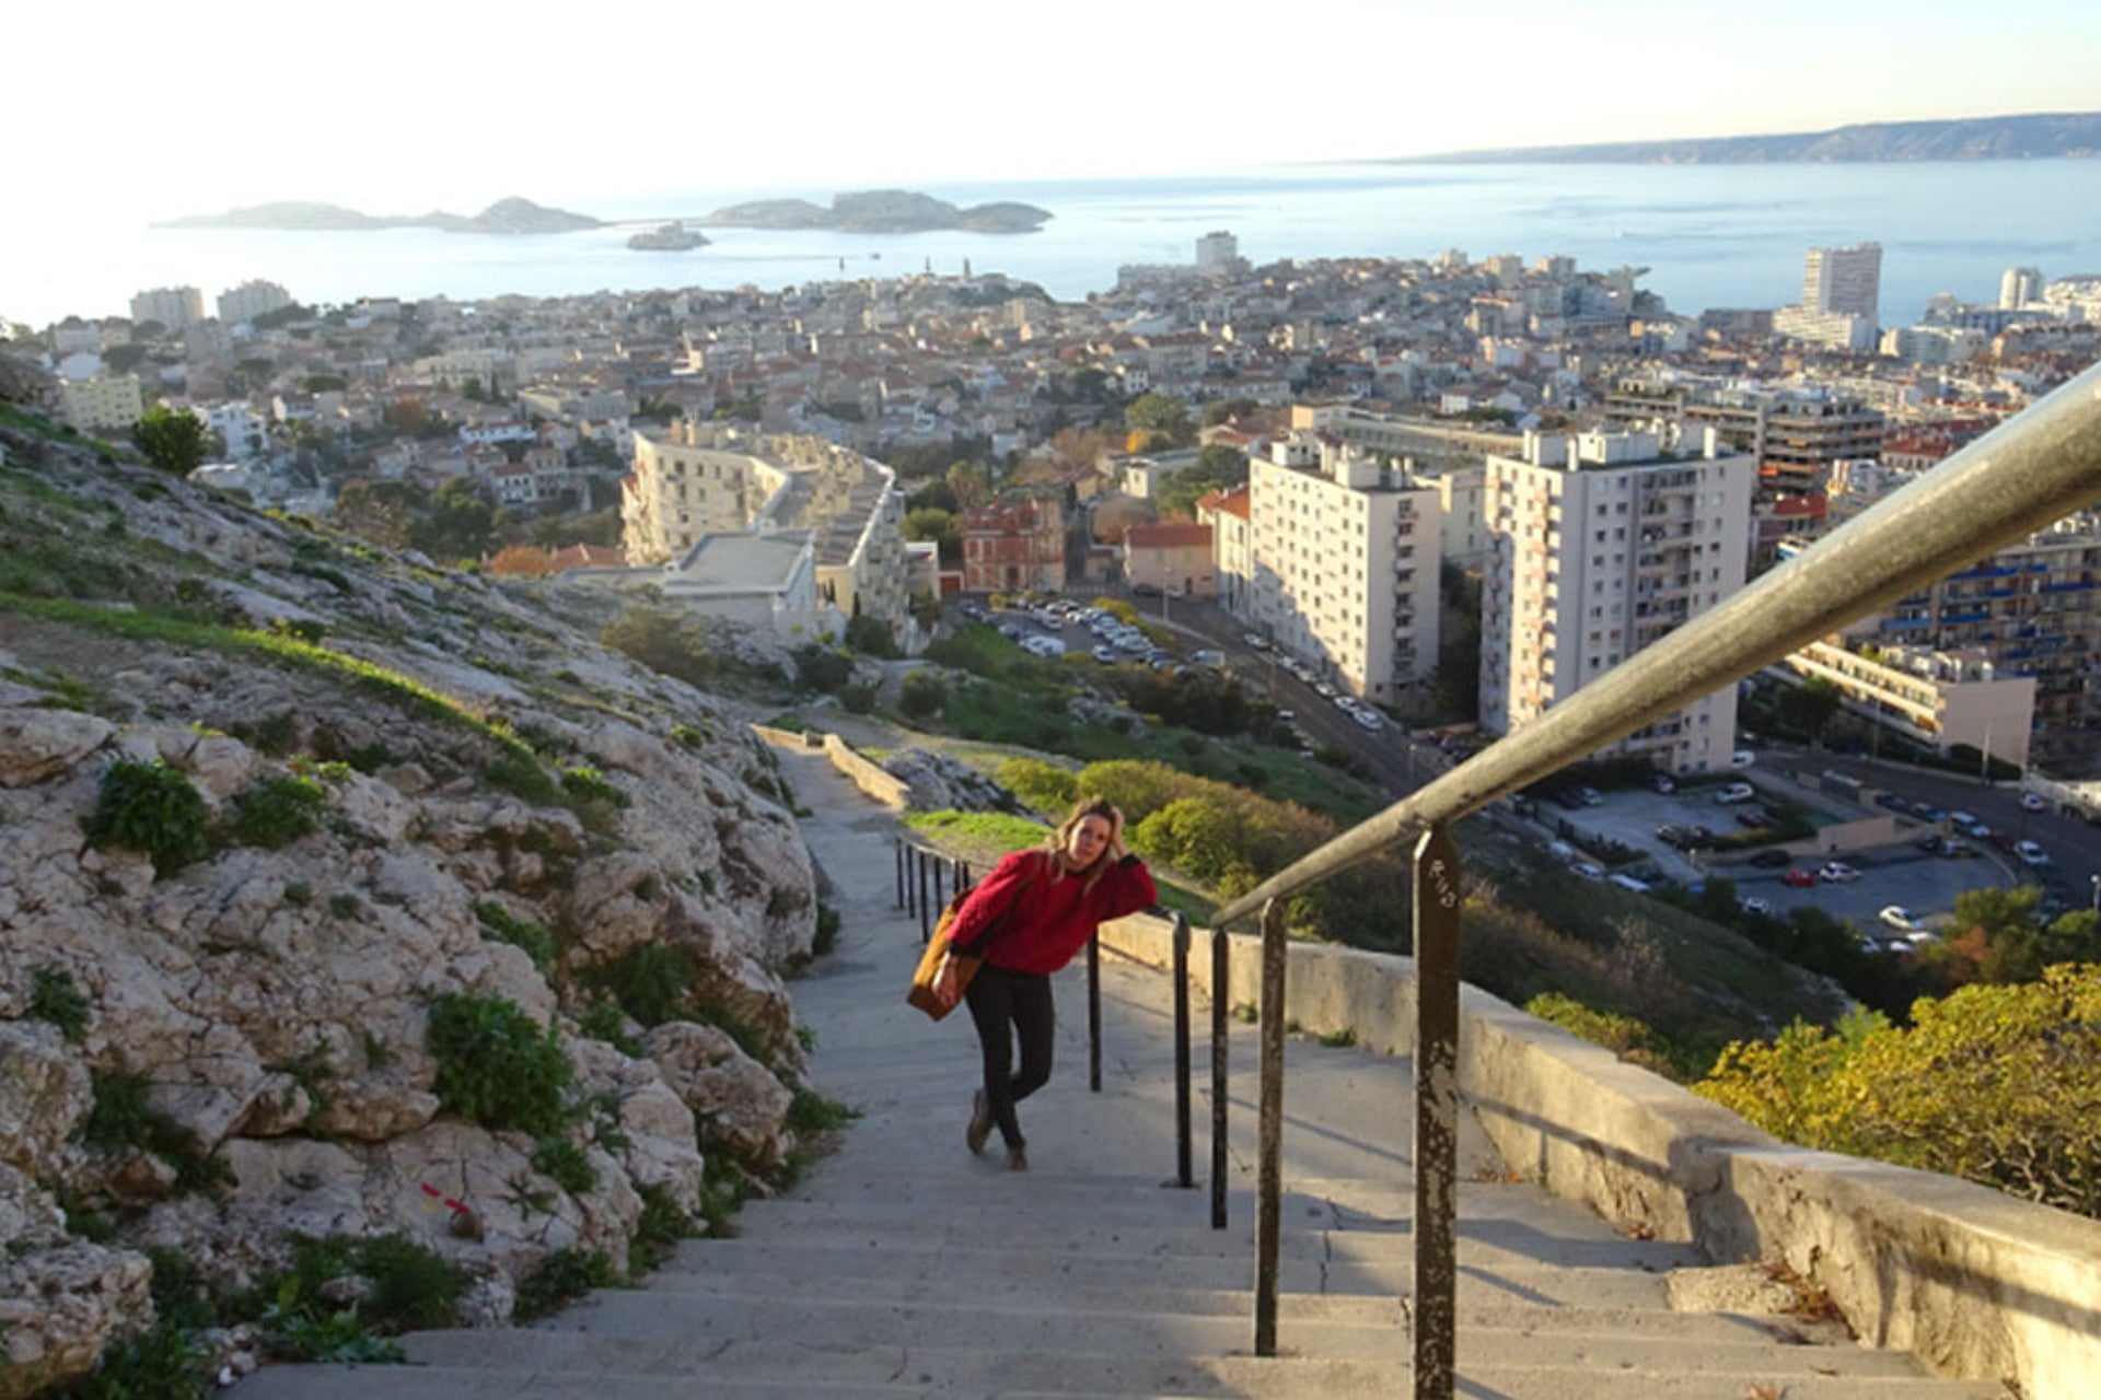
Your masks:
<path fill-rule="evenodd" d="M 2093 0 L 17 6 L 13 206 L 471 214 L 2101 111 Z M 0 208 L 0 218 L 8 216 Z M 4 271 L 0 271 L 4 275 Z"/>

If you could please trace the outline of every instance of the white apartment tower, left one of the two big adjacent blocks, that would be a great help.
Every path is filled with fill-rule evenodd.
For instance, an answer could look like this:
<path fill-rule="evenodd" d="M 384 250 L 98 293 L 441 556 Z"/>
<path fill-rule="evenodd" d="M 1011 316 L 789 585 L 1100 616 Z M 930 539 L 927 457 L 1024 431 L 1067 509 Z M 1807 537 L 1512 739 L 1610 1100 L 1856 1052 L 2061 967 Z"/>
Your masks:
<path fill-rule="evenodd" d="M 1437 491 L 1317 432 L 1248 462 L 1242 617 L 1370 701 L 1437 670 Z M 1237 588 L 1229 588 L 1240 594 Z"/>

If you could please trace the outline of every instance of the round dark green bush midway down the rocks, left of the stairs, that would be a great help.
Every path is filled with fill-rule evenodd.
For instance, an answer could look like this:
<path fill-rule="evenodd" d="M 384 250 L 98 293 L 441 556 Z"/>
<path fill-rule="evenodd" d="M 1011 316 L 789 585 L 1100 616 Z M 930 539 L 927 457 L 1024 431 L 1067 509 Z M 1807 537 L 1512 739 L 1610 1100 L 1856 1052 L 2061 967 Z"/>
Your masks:
<path fill-rule="evenodd" d="M 443 993 L 431 1003 L 429 1045 L 441 1108 L 469 1123 L 532 1136 L 567 1123 L 569 1056 L 517 1003 Z"/>

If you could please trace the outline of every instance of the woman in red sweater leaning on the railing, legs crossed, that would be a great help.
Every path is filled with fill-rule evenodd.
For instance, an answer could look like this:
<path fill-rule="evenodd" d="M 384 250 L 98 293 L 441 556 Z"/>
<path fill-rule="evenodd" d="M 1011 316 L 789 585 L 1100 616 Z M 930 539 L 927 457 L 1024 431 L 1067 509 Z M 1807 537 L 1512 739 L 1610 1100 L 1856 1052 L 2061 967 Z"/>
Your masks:
<path fill-rule="evenodd" d="M 1158 898 L 1151 871 L 1124 850 L 1124 814 L 1099 798 L 1080 802 L 1044 846 L 1002 856 L 964 898 L 948 928 L 948 945 L 985 957 L 964 993 L 985 1054 L 985 1087 L 971 1104 L 964 1131 L 973 1152 L 983 1152 L 998 1127 L 1006 1165 L 1027 1171 L 1027 1140 L 1015 1104 L 1050 1081 L 1057 1028 L 1050 974 L 1086 947 L 1103 919 L 1120 919 Z M 935 974 L 933 991 L 943 1001 L 956 999 L 952 968 L 943 959 Z M 1019 1068 L 1015 1043 L 1021 1045 Z"/>

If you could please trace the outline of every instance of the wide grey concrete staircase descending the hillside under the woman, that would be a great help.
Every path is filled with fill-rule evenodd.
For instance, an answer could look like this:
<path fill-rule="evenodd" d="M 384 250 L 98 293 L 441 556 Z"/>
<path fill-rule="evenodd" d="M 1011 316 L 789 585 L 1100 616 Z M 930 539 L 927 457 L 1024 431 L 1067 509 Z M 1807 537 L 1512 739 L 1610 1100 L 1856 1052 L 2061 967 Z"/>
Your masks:
<path fill-rule="evenodd" d="M 1103 1091 L 1084 980 L 1059 984 L 1053 1083 L 1021 1106 L 1032 1169 L 962 1144 L 975 1039 L 901 1001 L 916 926 L 891 909 L 893 823 L 784 751 L 847 928 L 796 982 L 815 1085 L 861 1119 L 792 1192 L 746 1205 L 639 1289 L 513 1331 L 405 1339 L 412 1366 L 275 1366 L 240 1400 L 681 1400 L 689 1396 L 1408 1396 L 1408 1062 L 1288 1052 L 1280 1356 L 1252 1354 L 1254 1037 L 1235 1022 L 1229 1228 L 1179 1190 L 1164 987 L 1105 959 Z M 1198 1171 L 1208 1073 L 1198 1056 Z M 1473 1400 L 1990 1400 L 1830 1324 L 1677 1312 L 1681 1245 L 1618 1236 L 1509 1180 L 1462 1136 L 1458 1394 Z"/>

